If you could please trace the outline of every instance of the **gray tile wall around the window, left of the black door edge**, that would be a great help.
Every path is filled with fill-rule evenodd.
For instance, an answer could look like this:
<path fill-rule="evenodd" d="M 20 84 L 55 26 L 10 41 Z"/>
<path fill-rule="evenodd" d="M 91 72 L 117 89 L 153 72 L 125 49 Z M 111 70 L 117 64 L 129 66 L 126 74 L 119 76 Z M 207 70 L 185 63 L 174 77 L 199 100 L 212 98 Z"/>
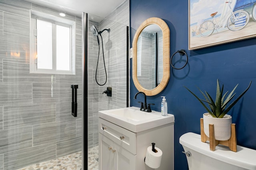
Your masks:
<path fill-rule="evenodd" d="M 82 19 L 67 16 L 76 20 L 76 75 L 31 74 L 30 9 L 58 14 L 22 0 L 0 1 L 0 170 L 82 150 Z M 76 118 L 71 84 L 79 86 Z"/>

